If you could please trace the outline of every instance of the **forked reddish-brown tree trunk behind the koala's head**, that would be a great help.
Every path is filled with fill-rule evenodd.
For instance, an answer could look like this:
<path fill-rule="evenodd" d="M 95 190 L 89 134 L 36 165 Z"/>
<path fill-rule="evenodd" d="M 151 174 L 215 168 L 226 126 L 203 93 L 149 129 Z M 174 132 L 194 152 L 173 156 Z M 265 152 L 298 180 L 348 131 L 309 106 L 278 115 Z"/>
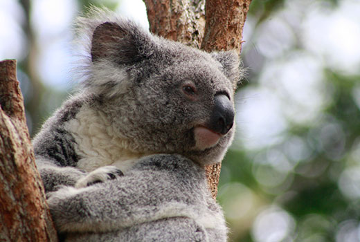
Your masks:
<path fill-rule="evenodd" d="M 150 31 L 208 52 L 235 49 L 240 55 L 242 30 L 251 0 L 143 0 Z M 206 167 L 208 185 L 217 196 L 221 163 Z"/>

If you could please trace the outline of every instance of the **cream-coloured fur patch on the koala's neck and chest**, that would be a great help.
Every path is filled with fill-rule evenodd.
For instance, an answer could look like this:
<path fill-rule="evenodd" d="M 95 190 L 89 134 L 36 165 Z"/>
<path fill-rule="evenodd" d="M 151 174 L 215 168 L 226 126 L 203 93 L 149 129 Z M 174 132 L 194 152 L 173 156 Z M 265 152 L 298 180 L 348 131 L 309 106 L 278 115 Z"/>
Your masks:
<path fill-rule="evenodd" d="M 129 140 L 114 129 L 101 111 L 83 106 L 75 118 L 65 124 L 75 138 L 75 151 L 80 155 L 77 167 L 93 171 L 105 165 L 114 165 L 122 171 L 132 167 L 138 158 L 151 153 L 137 153 Z"/>

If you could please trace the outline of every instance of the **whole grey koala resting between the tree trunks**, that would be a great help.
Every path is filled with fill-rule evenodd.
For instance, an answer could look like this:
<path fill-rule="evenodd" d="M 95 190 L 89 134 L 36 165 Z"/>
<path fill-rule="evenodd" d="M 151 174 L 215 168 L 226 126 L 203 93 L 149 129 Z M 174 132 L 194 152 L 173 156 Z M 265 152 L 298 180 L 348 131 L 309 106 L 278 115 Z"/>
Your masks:
<path fill-rule="evenodd" d="M 107 10 L 78 21 L 78 93 L 33 140 L 66 241 L 226 241 L 205 165 L 234 135 L 235 51 L 205 53 Z"/>

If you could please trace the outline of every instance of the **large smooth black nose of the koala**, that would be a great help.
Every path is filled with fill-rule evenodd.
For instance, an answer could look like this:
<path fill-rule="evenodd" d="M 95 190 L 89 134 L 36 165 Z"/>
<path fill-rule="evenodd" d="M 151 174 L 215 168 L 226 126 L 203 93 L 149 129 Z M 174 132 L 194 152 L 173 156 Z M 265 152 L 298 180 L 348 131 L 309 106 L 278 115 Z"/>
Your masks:
<path fill-rule="evenodd" d="M 226 134 L 233 127 L 235 111 L 233 104 L 224 94 L 215 95 L 215 106 L 210 118 L 210 129 Z"/>

